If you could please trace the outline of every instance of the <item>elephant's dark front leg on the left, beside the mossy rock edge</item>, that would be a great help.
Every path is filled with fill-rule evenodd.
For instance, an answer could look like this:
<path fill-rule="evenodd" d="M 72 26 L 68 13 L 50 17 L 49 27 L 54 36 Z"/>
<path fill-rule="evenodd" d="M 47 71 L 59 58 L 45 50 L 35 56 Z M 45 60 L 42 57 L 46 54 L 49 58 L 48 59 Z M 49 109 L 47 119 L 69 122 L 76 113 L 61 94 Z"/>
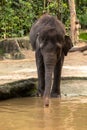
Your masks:
<path fill-rule="evenodd" d="M 38 90 L 37 96 L 43 96 L 45 89 L 45 70 L 43 57 L 40 51 L 36 52 L 36 65 L 37 65 L 37 74 L 38 74 Z"/>

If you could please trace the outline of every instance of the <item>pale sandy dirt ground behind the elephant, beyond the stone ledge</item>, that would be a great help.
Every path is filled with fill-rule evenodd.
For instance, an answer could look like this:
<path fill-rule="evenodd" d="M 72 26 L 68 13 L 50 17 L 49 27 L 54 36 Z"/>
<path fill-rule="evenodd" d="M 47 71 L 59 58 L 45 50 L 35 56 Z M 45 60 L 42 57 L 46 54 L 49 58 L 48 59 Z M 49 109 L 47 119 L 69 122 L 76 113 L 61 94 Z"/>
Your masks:
<path fill-rule="evenodd" d="M 0 61 L 0 84 L 37 77 L 35 53 L 31 50 L 24 50 L 22 53 L 26 59 Z M 87 55 L 81 52 L 68 53 L 62 77 L 87 77 Z"/>

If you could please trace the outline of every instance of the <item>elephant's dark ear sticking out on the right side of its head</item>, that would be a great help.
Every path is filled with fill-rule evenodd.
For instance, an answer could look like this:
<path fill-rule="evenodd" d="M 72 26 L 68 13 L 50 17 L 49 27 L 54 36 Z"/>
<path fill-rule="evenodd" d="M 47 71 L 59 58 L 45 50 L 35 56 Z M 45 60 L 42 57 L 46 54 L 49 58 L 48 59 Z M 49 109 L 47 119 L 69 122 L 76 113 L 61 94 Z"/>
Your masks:
<path fill-rule="evenodd" d="M 63 46 L 64 55 L 67 56 L 69 50 L 73 47 L 72 40 L 69 36 L 65 35 L 65 44 Z"/>

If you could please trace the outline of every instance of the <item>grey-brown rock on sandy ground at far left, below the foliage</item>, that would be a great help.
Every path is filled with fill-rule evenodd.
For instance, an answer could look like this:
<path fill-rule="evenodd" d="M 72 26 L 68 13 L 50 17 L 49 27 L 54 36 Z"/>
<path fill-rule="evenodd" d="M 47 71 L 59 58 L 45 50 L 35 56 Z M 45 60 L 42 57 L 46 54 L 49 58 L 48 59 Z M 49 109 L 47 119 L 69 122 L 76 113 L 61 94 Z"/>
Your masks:
<path fill-rule="evenodd" d="M 24 59 L 17 40 L 5 39 L 0 41 L 0 59 Z"/>

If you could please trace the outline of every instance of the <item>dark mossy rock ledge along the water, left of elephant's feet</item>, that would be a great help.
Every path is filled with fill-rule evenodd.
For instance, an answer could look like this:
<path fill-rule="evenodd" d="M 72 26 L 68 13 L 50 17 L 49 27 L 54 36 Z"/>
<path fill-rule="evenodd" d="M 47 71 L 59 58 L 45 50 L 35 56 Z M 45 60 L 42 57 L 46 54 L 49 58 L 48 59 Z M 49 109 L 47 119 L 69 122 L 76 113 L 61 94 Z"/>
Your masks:
<path fill-rule="evenodd" d="M 0 85 L 0 100 L 36 95 L 37 80 L 27 79 Z"/>

